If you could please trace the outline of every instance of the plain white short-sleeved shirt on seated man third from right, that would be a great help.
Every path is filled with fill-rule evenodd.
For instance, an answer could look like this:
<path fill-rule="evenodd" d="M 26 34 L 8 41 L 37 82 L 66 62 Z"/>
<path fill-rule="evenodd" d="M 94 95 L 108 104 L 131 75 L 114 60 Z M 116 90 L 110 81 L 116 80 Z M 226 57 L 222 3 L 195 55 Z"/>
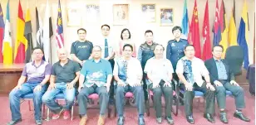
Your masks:
<path fill-rule="evenodd" d="M 155 57 L 152 57 L 147 60 L 144 72 L 152 76 L 153 81 L 150 81 L 150 83 L 159 84 L 161 79 L 171 83 L 170 74 L 174 73 L 174 69 L 170 60 L 156 60 Z"/>

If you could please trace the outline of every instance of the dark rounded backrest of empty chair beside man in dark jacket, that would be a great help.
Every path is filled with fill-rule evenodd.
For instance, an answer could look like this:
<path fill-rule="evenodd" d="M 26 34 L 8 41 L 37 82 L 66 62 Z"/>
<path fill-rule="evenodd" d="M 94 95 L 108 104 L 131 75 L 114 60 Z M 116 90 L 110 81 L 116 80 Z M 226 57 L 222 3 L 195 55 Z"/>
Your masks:
<path fill-rule="evenodd" d="M 229 46 L 226 50 L 225 60 L 228 61 L 229 68 L 234 75 L 242 74 L 244 51 L 240 46 Z"/>

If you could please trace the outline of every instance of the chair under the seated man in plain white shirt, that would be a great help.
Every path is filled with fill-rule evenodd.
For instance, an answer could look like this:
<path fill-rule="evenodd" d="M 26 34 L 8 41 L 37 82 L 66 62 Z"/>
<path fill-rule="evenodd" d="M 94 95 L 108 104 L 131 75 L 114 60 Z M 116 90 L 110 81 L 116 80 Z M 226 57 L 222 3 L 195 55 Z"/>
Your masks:
<path fill-rule="evenodd" d="M 149 85 L 149 80 L 146 79 L 145 81 Z M 173 90 L 173 97 L 175 99 L 175 109 L 172 106 L 171 107 L 171 112 L 173 112 L 175 114 L 175 116 L 177 116 L 178 115 L 178 110 L 179 110 L 179 103 L 180 103 L 179 102 L 179 97 L 178 97 L 178 95 L 180 94 L 180 89 L 179 89 L 179 87 L 177 87 L 178 86 L 177 81 L 175 79 L 173 79 L 172 81 L 173 81 L 172 83 L 175 84 L 175 90 Z M 152 101 L 153 101 L 153 91 L 151 91 L 149 89 L 149 87 L 147 87 L 147 91 L 148 91 L 148 100 L 146 101 L 146 106 L 145 107 L 146 107 L 147 116 L 150 116 L 150 99 L 152 99 Z M 153 103 L 154 103 L 154 101 L 153 101 Z"/>

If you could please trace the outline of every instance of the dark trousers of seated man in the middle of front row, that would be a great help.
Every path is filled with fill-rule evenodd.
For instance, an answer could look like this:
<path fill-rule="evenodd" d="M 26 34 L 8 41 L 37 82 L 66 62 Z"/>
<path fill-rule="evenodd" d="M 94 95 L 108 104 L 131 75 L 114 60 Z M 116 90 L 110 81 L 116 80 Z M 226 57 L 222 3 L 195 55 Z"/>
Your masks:
<path fill-rule="evenodd" d="M 127 92 L 132 92 L 135 97 L 135 104 L 138 110 L 139 115 L 144 114 L 145 101 L 144 101 L 144 92 L 142 86 L 131 87 L 126 85 L 125 87 L 117 85 L 116 87 L 116 109 L 119 117 L 122 117 L 124 114 L 124 99 Z"/>

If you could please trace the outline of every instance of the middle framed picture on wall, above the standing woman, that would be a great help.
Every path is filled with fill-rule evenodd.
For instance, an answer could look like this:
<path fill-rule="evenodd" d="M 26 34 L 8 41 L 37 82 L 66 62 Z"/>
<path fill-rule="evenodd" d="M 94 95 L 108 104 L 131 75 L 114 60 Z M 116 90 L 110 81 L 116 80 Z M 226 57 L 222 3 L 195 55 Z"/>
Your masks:
<path fill-rule="evenodd" d="M 129 21 L 129 5 L 114 4 L 113 5 L 113 24 L 126 25 Z"/>

